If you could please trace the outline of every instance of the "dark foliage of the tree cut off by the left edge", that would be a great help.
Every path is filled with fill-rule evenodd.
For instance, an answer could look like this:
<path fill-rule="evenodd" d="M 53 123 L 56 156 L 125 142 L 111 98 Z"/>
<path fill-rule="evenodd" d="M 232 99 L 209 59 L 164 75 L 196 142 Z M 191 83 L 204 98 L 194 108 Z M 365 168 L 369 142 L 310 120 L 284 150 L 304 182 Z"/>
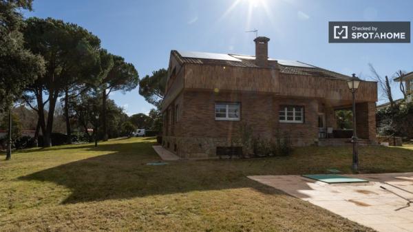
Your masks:
<path fill-rule="evenodd" d="M 42 57 L 23 46 L 20 9 L 32 10 L 32 1 L 0 1 L 0 112 L 8 109 L 23 89 L 45 72 Z"/>

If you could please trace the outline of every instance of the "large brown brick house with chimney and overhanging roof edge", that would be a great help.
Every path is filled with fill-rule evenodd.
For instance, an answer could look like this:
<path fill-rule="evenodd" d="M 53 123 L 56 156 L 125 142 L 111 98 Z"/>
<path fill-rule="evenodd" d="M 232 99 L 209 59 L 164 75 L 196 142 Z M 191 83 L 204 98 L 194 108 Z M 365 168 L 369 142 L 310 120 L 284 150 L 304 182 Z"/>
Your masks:
<path fill-rule="evenodd" d="M 260 138 L 287 132 L 295 146 L 326 140 L 336 109 L 350 109 L 350 76 L 268 58 L 266 37 L 255 56 L 172 50 L 162 102 L 162 145 L 184 158 L 216 156 L 247 123 Z M 357 133 L 376 139 L 377 83 L 357 90 Z M 331 130 L 331 129 L 330 129 Z"/>

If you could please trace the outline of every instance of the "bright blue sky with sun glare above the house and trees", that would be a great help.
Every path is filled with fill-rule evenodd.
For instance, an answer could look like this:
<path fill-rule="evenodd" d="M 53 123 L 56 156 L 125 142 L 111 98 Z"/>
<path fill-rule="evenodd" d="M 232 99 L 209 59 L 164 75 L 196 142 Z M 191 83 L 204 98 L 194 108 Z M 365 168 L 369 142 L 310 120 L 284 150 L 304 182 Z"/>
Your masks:
<path fill-rule="evenodd" d="M 271 39 L 268 55 L 369 79 L 413 71 L 412 43 L 328 43 L 328 21 L 413 21 L 413 1 L 329 0 L 34 0 L 25 17 L 52 17 L 96 34 L 101 46 L 133 63 L 142 78 L 167 68 L 171 50 L 255 54 L 253 39 Z M 394 98 L 402 94 L 395 83 Z M 138 88 L 109 96 L 127 114 L 147 114 Z M 381 101 L 385 102 L 381 96 Z"/>

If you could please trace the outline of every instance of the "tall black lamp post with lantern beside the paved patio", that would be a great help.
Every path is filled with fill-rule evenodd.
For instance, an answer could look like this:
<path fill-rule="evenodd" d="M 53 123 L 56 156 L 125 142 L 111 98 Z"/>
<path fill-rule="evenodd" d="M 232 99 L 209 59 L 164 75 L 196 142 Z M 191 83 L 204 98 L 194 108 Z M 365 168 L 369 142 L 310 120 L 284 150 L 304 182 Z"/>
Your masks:
<path fill-rule="evenodd" d="M 356 76 L 356 74 L 352 74 L 352 78 L 347 81 L 348 89 L 350 89 L 352 93 L 352 113 L 353 113 L 353 136 L 352 136 L 352 144 L 353 144 L 353 158 L 352 158 L 352 169 L 357 171 L 359 169 L 359 152 L 357 151 L 357 133 L 356 133 L 356 98 L 355 94 L 357 89 L 359 88 L 360 79 Z"/>

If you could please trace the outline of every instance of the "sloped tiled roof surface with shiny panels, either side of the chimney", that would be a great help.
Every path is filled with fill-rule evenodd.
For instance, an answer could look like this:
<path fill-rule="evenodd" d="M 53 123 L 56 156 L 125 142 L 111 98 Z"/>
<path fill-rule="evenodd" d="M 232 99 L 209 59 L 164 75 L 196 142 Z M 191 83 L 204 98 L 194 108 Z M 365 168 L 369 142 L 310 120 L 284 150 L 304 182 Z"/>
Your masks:
<path fill-rule="evenodd" d="M 255 64 L 255 56 L 240 54 L 220 54 L 210 52 L 183 52 L 172 50 L 171 54 L 179 63 L 195 63 L 205 65 L 223 65 L 235 67 L 260 67 Z M 309 65 L 301 61 L 288 61 L 282 59 L 268 59 L 268 68 L 279 67 L 283 74 L 296 74 L 306 76 L 321 76 L 325 78 L 348 79 L 350 76 L 325 70 L 321 67 Z"/>

